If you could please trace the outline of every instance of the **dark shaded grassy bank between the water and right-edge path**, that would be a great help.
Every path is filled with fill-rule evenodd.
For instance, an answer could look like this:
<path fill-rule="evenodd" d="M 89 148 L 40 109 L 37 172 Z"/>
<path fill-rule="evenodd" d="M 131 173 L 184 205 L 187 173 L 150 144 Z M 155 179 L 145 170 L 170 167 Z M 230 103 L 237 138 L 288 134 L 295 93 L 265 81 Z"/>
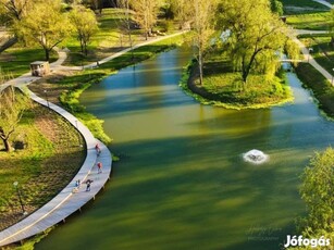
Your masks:
<path fill-rule="evenodd" d="M 312 90 L 319 108 L 334 117 L 334 88 L 326 78 L 308 63 L 299 63 L 296 73 L 305 87 Z"/>

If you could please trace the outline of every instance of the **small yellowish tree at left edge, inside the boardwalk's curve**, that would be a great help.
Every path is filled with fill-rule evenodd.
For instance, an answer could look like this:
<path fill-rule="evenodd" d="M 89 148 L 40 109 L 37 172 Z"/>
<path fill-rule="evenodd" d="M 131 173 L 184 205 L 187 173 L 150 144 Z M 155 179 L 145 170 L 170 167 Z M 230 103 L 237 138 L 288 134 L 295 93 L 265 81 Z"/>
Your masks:
<path fill-rule="evenodd" d="M 25 110 L 29 108 L 29 98 L 17 93 L 13 86 L 0 93 L 0 138 L 7 152 L 11 151 L 10 137 L 15 132 Z"/>

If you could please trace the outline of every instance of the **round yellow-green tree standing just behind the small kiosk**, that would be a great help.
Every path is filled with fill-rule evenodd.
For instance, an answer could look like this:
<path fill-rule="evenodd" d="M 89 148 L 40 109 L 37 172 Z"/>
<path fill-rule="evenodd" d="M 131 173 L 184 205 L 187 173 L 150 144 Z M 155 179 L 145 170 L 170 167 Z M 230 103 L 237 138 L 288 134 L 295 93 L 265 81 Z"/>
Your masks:
<path fill-rule="evenodd" d="M 28 41 L 37 42 L 50 59 L 50 51 L 71 32 L 67 15 L 61 11 L 60 0 L 34 3 L 29 14 L 16 23 L 16 28 Z"/>

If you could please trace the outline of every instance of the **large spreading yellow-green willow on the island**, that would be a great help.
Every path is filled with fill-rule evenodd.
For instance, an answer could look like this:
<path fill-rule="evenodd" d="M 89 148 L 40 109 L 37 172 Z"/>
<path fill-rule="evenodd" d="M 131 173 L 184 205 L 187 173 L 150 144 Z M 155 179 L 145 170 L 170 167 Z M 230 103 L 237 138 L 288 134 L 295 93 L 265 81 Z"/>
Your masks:
<path fill-rule="evenodd" d="M 235 68 L 242 72 L 245 89 L 251 72 L 273 72 L 276 53 L 287 40 L 286 27 L 271 12 L 268 0 L 223 0 L 221 13 L 222 29 L 231 30 L 226 50 Z"/>

